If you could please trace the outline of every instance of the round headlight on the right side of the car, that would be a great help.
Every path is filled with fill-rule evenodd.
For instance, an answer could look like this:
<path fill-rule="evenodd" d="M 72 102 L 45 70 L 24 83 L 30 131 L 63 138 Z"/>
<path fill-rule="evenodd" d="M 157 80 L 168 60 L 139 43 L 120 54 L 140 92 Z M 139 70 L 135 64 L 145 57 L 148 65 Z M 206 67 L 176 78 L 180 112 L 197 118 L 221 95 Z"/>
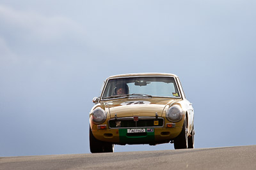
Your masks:
<path fill-rule="evenodd" d="M 166 118 L 171 122 L 178 122 L 182 118 L 182 109 L 179 105 L 174 105 L 166 111 Z"/>

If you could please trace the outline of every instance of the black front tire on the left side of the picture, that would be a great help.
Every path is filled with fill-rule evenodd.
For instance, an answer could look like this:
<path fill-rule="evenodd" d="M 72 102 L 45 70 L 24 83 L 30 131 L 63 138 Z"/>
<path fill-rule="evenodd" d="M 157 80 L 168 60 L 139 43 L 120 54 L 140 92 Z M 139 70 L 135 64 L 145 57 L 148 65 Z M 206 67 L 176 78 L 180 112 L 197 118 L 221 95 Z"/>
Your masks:
<path fill-rule="evenodd" d="M 92 134 L 92 129 L 90 127 L 90 151 L 92 153 L 102 153 L 102 152 L 114 152 L 114 145 L 112 143 L 107 143 L 99 141 Z"/>

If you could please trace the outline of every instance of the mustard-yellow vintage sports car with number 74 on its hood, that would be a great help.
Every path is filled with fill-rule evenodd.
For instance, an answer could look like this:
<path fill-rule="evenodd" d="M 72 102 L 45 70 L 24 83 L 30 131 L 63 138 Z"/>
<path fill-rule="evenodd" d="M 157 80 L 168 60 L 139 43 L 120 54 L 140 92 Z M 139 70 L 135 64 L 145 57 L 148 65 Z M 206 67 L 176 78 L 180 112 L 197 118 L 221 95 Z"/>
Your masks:
<path fill-rule="evenodd" d="M 90 111 L 90 151 L 114 145 L 174 143 L 194 148 L 194 110 L 179 77 L 167 73 L 110 76 Z"/>

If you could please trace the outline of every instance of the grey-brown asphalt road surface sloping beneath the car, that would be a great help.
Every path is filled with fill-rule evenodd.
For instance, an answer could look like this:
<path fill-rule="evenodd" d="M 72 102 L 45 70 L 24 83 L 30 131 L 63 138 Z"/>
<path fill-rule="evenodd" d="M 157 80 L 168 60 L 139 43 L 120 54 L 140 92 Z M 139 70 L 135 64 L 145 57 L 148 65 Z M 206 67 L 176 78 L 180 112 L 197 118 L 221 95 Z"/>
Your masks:
<path fill-rule="evenodd" d="M 0 169 L 256 169 L 256 145 L 0 157 Z"/>

